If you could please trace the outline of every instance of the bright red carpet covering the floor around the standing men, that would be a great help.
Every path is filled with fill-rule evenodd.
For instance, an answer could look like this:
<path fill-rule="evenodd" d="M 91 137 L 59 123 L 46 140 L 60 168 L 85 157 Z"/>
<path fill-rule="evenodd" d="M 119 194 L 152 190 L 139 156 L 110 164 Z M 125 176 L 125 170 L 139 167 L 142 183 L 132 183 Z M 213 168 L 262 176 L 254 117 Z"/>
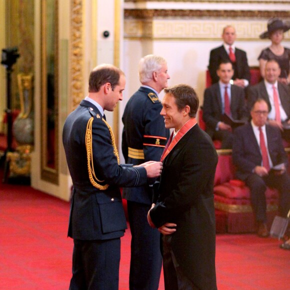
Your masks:
<path fill-rule="evenodd" d="M 0 289 L 67 289 L 69 203 L 29 186 L 0 184 Z M 218 289 L 286 289 L 290 251 L 254 234 L 218 234 Z M 128 289 L 130 232 L 121 239 L 120 290 Z M 161 279 L 159 289 L 164 289 Z"/>

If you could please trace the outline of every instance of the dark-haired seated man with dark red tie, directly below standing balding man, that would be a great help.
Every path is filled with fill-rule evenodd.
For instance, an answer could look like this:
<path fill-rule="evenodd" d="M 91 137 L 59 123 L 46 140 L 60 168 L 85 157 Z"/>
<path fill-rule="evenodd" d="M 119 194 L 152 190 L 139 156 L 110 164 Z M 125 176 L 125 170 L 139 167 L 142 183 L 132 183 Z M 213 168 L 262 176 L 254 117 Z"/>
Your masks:
<path fill-rule="evenodd" d="M 221 121 L 227 113 L 234 120 L 247 121 L 244 90 L 230 83 L 233 69 L 229 60 L 222 61 L 216 71 L 219 81 L 204 91 L 203 119 L 206 132 L 214 140 L 221 140 L 221 148 L 231 148 L 232 130 L 230 125 Z"/>

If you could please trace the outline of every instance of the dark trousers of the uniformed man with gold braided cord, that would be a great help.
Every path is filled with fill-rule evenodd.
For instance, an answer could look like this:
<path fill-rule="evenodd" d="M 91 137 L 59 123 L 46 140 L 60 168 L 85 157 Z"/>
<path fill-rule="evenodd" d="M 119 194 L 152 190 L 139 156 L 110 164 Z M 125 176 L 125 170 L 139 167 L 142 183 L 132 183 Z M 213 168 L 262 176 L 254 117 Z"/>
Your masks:
<path fill-rule="evenodd" d="M 117 290 L 120 238 L 73 240 L 69 289 Z"/>

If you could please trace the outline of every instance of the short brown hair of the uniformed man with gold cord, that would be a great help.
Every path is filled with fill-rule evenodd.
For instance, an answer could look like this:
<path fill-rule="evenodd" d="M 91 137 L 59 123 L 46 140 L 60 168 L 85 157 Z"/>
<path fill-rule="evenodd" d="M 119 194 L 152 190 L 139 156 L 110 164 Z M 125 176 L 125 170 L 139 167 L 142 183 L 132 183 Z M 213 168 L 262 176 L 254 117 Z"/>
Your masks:
<path fill-rule="evenodd" d="M 98 92 L 100 87 L 109 82 L 112 90 L 119 84 L 120 75 L 124 72 L 112 64 L 100 64 L 89 74 L 88 91 Z"/>

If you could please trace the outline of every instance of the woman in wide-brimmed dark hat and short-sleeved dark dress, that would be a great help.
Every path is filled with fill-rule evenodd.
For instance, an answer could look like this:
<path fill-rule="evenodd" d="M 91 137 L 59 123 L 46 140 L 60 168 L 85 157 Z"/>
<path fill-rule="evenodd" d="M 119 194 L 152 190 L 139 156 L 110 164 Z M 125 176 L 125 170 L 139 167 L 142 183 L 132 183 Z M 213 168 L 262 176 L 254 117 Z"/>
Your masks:
<path fill-rule="evenodd" d="M 271 18 L 267 23 L 267 31 L 260 34 L 260 38 L 269 38 L 271 45 L 263 49 L 258 57 L 260 64 L 260 73 L 264 77 L 265 64 L 269 59 L 275 59 L 281 68 L 281 73 L 278 81 L 288 84 L 290 83 L 290 49 L 281 45 L 283 33 L 290 28 L 290 25 L 285 24 L 279 18 Z"/>

